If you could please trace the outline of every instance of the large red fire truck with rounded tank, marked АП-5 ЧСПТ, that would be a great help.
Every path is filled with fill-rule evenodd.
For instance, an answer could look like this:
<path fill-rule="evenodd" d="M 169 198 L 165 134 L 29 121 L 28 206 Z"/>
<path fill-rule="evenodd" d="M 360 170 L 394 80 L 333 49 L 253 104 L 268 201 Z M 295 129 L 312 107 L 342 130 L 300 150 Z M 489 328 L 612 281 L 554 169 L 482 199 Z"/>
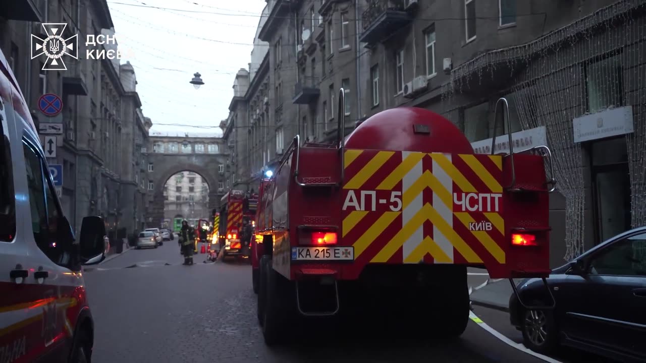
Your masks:
<path fill-rule="evenodd" d="M 501 98 L 495 116 L 499 103 L 508 114 Z M 344 138 L 343 89 L 338 116 L 338 147 L 295 136 L 261 205 L 272 214 L 258 276 L 267 345 L 307 316 L 375 306 L 382 320 L 386 298 L 404 303 L 397 315 L 412 314 L 420 333 L 457 337 L 469 320 L 468 266 L 508 278 L 516 295 L 513 278 L 547 288 L 548 147 L 514 152 L 508 134 L 508 154 L 493 154 L 495 137 L 492 154 L 474 154 L 448 119 L 418 108 L 379 112 Z"/>

